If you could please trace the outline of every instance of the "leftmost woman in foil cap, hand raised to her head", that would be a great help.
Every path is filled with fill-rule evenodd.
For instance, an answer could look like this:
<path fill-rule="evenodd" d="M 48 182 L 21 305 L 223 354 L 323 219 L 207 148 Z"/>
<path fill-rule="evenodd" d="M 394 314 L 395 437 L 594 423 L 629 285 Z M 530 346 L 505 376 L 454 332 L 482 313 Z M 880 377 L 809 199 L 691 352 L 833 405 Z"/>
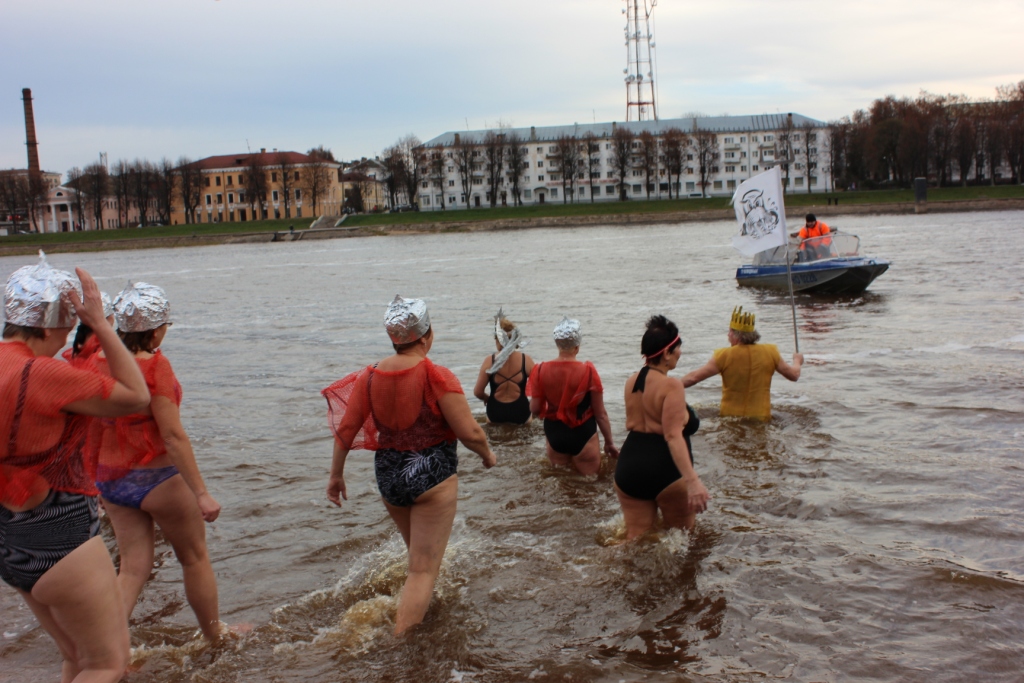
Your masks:
<path fill-rule="evenodd" d="M 116 418 L 150 401 L 145 380 L 103 321 L 85 271 L 51 268 L 40 254 L 4 292 L 0 342 L 0 578 L 56 641 L 61 680 L 114 683 L 128 665 L 128 623 L 117 572 L 99 536 L 87 416 Z M 94 330 L 111 376 L 53 356 L 77 315 Z"/>

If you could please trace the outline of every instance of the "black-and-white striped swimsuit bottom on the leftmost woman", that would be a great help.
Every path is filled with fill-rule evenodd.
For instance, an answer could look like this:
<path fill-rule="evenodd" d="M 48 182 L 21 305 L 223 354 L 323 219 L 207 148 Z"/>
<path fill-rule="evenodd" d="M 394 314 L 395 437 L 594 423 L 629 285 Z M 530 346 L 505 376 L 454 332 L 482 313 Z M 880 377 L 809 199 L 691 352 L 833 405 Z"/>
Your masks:
<path fill-rule="evenodd" d="M 0 506 L 0 579 L 29 593 L 50 567 L 98 533 L 93 496 L 50 490 L 25 512 Z"/>

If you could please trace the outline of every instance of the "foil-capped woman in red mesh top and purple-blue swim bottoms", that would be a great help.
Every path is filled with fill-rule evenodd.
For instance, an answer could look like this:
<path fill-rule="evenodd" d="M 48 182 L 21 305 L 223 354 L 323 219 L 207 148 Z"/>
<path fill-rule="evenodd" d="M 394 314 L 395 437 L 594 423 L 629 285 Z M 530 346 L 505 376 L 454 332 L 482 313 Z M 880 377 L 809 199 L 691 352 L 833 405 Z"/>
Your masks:
<path fill-rule="evenodd" d="M 220 515 L 181 425 L 181 384 L 161 346 L 171 326 L 164 290 L 147 283 L 125 288 L 114 301 L 118 334 L 145 378 L 150 403 L 134 415 L 100 422 L 95 434 L 96 487 L 114 526 L 121 565 L 118 586 L 131 613 L 153 573 L 155 527 L 181 564 L 185 598 L 210 641 L 226 633 L 220 622 L 217 580 L 206 545 L 206 523 Z M 98 353 L 92 368 L 111 374 Z"/>

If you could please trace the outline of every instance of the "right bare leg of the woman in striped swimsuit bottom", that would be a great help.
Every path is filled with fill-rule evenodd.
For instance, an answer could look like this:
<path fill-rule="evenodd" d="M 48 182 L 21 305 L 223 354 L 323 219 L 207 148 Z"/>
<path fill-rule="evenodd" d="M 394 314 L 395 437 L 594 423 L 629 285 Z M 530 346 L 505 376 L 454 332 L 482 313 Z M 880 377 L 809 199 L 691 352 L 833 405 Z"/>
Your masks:
<path fill-rule="evenodd" d="M 65 656 L 61 681 L 115 683 L 128 666 L 128 624 L 102 539 L 89 539 L 22 595 Z"/>

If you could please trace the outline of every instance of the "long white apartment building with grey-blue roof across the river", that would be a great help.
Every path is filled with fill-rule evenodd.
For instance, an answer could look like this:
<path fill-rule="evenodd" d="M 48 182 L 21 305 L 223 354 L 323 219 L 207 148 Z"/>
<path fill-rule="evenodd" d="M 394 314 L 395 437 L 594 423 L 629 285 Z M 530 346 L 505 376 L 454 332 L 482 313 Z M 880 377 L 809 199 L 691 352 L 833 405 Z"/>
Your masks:
<path fill-rule="evenodd" d="M 557 142 L 563 136 L 573 136 L 583 143 L 592 134 L 600 148 L 600 160 L 592 173 L 584 162 L 579 174 L 574 196 L 569 202 L 617 201 L 620 199 L 618 174 L 613 168 L 612 134 L 617 127 L 629 129 L 634 136 L 650 131 L 658 141 L 657 168 L 654 176 L 645 183 L 645 173 L 640 159 L 634 156 L 626 181 L 626 196 L 630 199 L 669 199 L 670 179 L 666 157 L 662 150 L 662 135 L 670 128 L 678 128 L 690 136 L 684 153 L 683 169 L 678 181 L 672 178 L 671 195 L 699 197 L 701 195 L 699 164 L 692 140 L 696 130 L 714 135 L 714 152 L 708 167 L 705 195 L 729 196 L 742 180 L 783 165 L 788 190 L 795 193 L 822 193 L 831 189 L 828 175 L 828 126 L 822 121 L 799 114 L 760 116 L 723 116 L 691 119 L 663 119 L 660 121 L 631 121 L 626 123 L 574 124 L 570 126 L 530 126 L 529 128 L 484 129 L 450 131 L 427 140 L 421 151 L 420 191 L 421 211 L 465 209 L 489 206 L 489 178 L 483 141 L 493 132 L 506 136 L 514 133 L 525 147 L 525 162 L 520 176 L 520 200 L 524 205 L 562 203 L 565 198 L 563 179 L 556 156 Z M 456 162 L 456 146 L 473 143 L 474 163 L 469 193 L 464 191 L 462 176 Z M 634 152 L 639 141 L 633 142 Z M 443 177 L 438 179 L 431 172 L 429 158 L 441 151 L 446 159 Z M 476 161 L 478 159 L 478 161 Z M 786 168 L 787 167 L 787 168 Z M 503 169 L 498 188 L 497 204 L 513 204 L 512 184 L 508 169 Z M 591 177 L 588 177 L 591 176 Z M 591 197 L 593 194 L 593 198 Z"/>

